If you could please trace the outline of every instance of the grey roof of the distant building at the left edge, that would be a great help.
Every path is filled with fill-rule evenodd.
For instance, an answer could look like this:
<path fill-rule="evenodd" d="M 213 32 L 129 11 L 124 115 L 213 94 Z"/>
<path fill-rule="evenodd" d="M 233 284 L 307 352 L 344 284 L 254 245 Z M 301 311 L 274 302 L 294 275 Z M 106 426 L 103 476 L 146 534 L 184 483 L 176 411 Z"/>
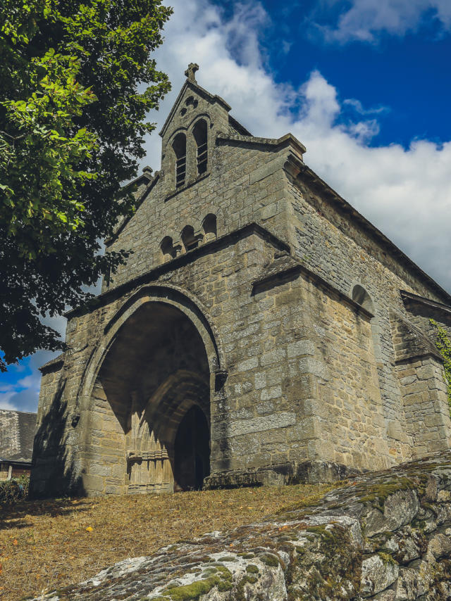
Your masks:
<path fill-rule="evenodd" d="M 36 413 L 0 409 L 1 460 L 31 462 Z"/>

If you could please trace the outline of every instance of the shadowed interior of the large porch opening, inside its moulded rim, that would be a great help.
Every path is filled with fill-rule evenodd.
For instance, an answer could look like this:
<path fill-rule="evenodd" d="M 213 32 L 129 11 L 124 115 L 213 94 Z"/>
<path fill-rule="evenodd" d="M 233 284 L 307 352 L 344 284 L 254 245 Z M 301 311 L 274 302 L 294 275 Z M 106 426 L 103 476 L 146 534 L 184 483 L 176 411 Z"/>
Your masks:
<path fill-rule="evenodd" d="M 209 360 L 193 322 L 173 305 L 144 303 L 118 329 L 99 369 L 92 403 L 101 407 L 91 430 L 95 469 L 98 455 L 115 474 L 122 469 L 129 493 L 199 488 L 209 473 L 210 395 Z M 180 437 L 188 426 L 199 436 L 183 439 L 193 461 L 184 474 Z"/>

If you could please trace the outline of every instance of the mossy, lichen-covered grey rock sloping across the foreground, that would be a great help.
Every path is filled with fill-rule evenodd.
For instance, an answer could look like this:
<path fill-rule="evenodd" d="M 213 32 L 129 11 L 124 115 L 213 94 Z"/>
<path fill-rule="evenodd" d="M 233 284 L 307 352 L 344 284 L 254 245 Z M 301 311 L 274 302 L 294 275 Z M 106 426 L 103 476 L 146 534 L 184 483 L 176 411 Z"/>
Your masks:
<path fill-rule="evenodd" d="M 35 601 L 451 599 L 451 452 L 360 476 L 313 507 L 180 541 Z"/>

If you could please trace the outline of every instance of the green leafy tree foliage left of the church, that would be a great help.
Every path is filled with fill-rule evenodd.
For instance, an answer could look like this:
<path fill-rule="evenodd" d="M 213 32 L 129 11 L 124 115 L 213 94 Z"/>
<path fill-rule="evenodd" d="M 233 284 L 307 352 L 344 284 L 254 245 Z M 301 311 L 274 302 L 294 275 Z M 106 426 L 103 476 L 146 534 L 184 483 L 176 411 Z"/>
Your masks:
<path fill-rule="evenodd" d="M 0 370 L 63 348 L 39 316 L 89 298 L 124 260 L 99 239 L 133 210 L 121 184 L 170 89 L 152 52 L 161 0 L 0 0 Z"/>

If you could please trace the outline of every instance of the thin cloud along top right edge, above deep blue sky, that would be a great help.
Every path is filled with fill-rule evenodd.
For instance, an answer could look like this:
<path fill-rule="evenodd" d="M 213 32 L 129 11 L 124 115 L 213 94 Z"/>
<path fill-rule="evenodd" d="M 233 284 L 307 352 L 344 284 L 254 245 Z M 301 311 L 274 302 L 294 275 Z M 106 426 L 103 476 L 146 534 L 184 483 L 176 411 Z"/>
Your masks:
<path fill-rule="evenodd" d="M 332 11 L 338 15 L 336 23 L 321 25 Z M 375 43 L 383 32 L 401 37 L 419 30 L 426 20 L 435 20 L 442 31 L 449 31 L 450 0 L 323 0 L 311 14 L 314 29 L 324 40 L 340 44 Z"/>

